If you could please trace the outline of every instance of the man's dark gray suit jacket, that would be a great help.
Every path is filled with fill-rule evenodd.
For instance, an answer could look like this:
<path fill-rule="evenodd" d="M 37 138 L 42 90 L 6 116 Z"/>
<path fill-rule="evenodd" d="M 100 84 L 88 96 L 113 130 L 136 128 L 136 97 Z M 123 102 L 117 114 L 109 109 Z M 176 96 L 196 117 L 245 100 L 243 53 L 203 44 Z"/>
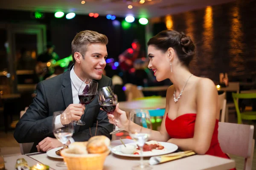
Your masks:
<path fill-rule="evenodd" d="M 73 103 L 70 69 L 38 83 L 37 96 L 16 125 L 14 138 L 18 143 L 35 142 L 31 153 L 37 152 L 35 146 L 44 138 L 55 138 L 52 133 L 53 112 L 64 111 Z M 99 83 L 98 89 L 105 86 L 112 87 L 112 80 L 104 75 L 102 79 L 96 81 Z M 72 136 L 75 141 L 87 141 L 91 137 L 89 127 L 94 136 L 97 121 L 97 135 L 105 135 L 111 139 L 112 136 L 109 133 L 113 130 L 113 125 L 108 122 L 107 113 L 100 110 L 98 95 L 93 102 L 85 105 L 81 120 L 85 122 L 85 125 L 75 126 L 75 133 Z"/>

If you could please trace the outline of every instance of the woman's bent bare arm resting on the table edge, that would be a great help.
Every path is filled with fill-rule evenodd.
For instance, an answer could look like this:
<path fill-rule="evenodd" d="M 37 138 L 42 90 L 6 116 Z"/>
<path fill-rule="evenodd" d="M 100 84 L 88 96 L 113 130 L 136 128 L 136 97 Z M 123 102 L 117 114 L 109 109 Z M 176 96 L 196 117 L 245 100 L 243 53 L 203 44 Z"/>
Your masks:
<path fill-rule="evenodd" d="M 212 134 L 215 128 L 216 113 L 218 112 L 218 93 L 210 79 L 201 79 L 197 86 L 194 137 L 189 139 L 170 139 L 182 150 L 194 150 L 205 154 L 209 150 Z"/>

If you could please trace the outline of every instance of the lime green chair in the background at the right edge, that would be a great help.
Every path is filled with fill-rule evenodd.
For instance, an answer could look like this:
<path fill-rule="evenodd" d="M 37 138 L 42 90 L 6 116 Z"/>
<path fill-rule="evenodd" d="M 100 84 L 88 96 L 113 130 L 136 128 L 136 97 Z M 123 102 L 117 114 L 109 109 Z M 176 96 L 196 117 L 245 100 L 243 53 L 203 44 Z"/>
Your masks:
<path fill-rule="evenodd" d="M 237 123 L 241 124 L 244 120 L 256 120 L 256 111 L 244 111 L 240 112 L 238 99 L 256 99 L 256 93 L 236 94 L 232 93 L 232 97 L 236 107 Z"/>

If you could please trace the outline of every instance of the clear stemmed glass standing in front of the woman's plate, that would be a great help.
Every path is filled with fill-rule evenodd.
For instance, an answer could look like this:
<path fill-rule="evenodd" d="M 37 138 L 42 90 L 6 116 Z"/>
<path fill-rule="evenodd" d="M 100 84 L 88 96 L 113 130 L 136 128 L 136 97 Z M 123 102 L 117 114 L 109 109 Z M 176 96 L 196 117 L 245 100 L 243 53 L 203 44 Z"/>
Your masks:
<path fill-rule="evenodd" d="M 140 147 L 140 164 L 132 167 L 133 170 L 150 170 L 149 164 L 143 162 L 143 146 L 151 135 L 152 124 L 149 112 L 147 110 L 135 110 L 130 112 L 128 132 L 136 144 Z M 140 125 L 140 128 L 134 128 L 134 125 Z"/>

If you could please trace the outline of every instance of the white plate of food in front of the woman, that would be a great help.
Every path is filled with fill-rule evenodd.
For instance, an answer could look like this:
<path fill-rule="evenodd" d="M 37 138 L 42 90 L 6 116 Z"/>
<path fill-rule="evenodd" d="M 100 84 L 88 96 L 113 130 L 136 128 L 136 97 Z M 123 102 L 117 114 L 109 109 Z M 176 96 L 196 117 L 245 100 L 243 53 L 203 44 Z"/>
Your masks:
<path fill-rule="evenodd" d="M 150 152 L 143 152 L 143 157 L 150 157 L 150 156 L 157 156 L 157 155 L 164 155 L 164 154 L 167 154 L 167 153 L 172 153 L 174 152 L 175 150 L 178 149 L 178 146 L 176 144 L 172 144 L 172 143 L 167 143 L 167 142 L 158 142 L 160 144 L 162 144 L 164 146 L 164 149 L 163 150 L 153 150 L 153 151 L 150 151 Z M 136 145 L 136 143 L 129 143 L 129 144 L 132 144 L 132 145 Z M 121 144 L 122 145 L 122 144 Z M 111 149 L 111 152 L 116 154 L 116 155 L 120 155 L 120 156 L 129 156 L 129 157 L 140 157 L 140 155 L 134 155 L 134 154 L 125 154 L 125 153 L 122 153 L 120 151 L 120 146 L 121 145 L 118 145 L 116 147 L 113 147 Z M 126 145 L 126 144 L 125 144 Z"/>

